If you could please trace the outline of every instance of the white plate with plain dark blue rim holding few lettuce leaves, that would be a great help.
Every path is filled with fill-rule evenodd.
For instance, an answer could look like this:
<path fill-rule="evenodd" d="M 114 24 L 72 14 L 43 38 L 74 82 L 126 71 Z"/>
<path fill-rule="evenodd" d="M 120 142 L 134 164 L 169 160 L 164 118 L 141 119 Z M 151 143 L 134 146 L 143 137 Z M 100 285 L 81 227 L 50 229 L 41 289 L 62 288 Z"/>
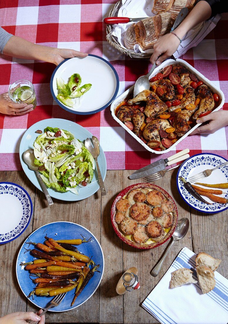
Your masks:
<path fill-rule="evenodd" d="M 68 107 L 56 98 L 56 78 L 61 77 L 68 83 L 74 73 L 81 75 L 80 87 L 92 84 L 90 90 L 81 96 L 81 105 L 77 108 Z M 89 54 L 84 58 L 73 57 L 60 63 L 52 73 L 50 88 L 52 97 L 60 107 L 73 114 L 89 115 L 105 109 L 113 102 L 119 90 L 119 78 L 112 64 L 100 56 Z"/>

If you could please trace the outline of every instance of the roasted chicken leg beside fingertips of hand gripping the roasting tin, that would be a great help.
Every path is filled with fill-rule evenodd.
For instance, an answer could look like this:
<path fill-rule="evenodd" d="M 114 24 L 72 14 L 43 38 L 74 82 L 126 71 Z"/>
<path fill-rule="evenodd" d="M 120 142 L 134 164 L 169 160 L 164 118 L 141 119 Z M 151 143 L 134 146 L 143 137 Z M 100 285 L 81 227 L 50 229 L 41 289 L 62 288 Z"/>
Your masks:
<path fill-rule="evenodd" d="M 177 136 L 183 136 L 188 131 L 190 131 L 191 127 L 188 124 L 188 121 L 190 120 L 191 115 L 194 113 L 195 110 L 187 110 L 184 109 L 180 112 L 178 112 L 174 118 L 173 121 L 173 127 L 175 128 L 175 133 Z"/>

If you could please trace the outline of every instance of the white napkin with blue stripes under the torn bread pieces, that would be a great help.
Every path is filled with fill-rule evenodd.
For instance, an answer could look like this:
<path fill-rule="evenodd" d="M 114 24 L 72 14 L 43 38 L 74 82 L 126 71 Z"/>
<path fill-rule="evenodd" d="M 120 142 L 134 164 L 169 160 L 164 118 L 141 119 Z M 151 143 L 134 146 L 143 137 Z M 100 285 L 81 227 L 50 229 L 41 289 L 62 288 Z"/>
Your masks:
<path fill-rule="evenodd" d="M 144 300 L 144 307 L 162 324 L 227 324 L 228 280 L 215 271 L 216 285 L 203 294 L 198 282 L 169 288 L 171 273 L 189 268 L 196 276 L 196 254 L 183 248 L 163 278 Z M 222 261 L 223 262 L 223 261 Z"/>

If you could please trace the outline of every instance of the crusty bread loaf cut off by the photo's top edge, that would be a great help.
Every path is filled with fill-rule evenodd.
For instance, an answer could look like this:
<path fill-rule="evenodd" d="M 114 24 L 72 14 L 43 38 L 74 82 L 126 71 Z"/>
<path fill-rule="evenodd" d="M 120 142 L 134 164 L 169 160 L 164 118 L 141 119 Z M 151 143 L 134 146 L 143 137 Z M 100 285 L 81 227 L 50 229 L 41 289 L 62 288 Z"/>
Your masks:
<path fill-rule="evenodd" d="M 196 0 L 154 0 L 152 12 L 160 14 L 161 12 L 168 11 L 178 15 L 179 11 L 184 7 L 191 11 L 195 2 Z"/>

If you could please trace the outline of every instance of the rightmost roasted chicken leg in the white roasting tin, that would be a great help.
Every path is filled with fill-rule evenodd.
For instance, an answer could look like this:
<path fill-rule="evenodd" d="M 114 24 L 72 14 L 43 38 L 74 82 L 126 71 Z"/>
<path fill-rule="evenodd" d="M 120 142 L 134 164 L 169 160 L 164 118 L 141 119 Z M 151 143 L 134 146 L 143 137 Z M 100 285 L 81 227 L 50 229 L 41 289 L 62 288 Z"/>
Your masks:
<path fill-rule="evenodd" d="M 194 120 L 203 112 L 210 111 L 214 108 L 212 92 L 205 84 L 200 87 L 198 98 L 200 99 L 200 108 L 194 113 L 192 117 Z"/>

